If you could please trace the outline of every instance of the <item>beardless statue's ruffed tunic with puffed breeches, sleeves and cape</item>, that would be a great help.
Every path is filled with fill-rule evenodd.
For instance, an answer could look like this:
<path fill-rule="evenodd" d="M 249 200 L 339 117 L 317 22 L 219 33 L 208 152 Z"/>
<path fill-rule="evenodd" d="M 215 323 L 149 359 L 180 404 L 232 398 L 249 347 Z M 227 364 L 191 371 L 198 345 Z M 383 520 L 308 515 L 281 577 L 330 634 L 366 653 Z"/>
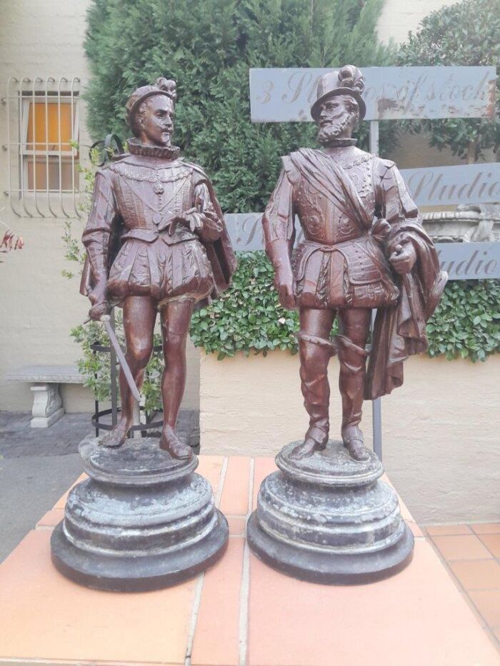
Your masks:
<path fill-rule="evenodd" d="M 83 291 L 104 278 L 114 303 L 151 296 L 159 306 L 200 301 L 228 286 L 236 268 L 224 218 L 204 171 L 179 148 L 129 141 L 131 154 L 96 174 L 83 235 L 89 258 Z M 201 228 L 181 218 L 196 213 Z"/>

